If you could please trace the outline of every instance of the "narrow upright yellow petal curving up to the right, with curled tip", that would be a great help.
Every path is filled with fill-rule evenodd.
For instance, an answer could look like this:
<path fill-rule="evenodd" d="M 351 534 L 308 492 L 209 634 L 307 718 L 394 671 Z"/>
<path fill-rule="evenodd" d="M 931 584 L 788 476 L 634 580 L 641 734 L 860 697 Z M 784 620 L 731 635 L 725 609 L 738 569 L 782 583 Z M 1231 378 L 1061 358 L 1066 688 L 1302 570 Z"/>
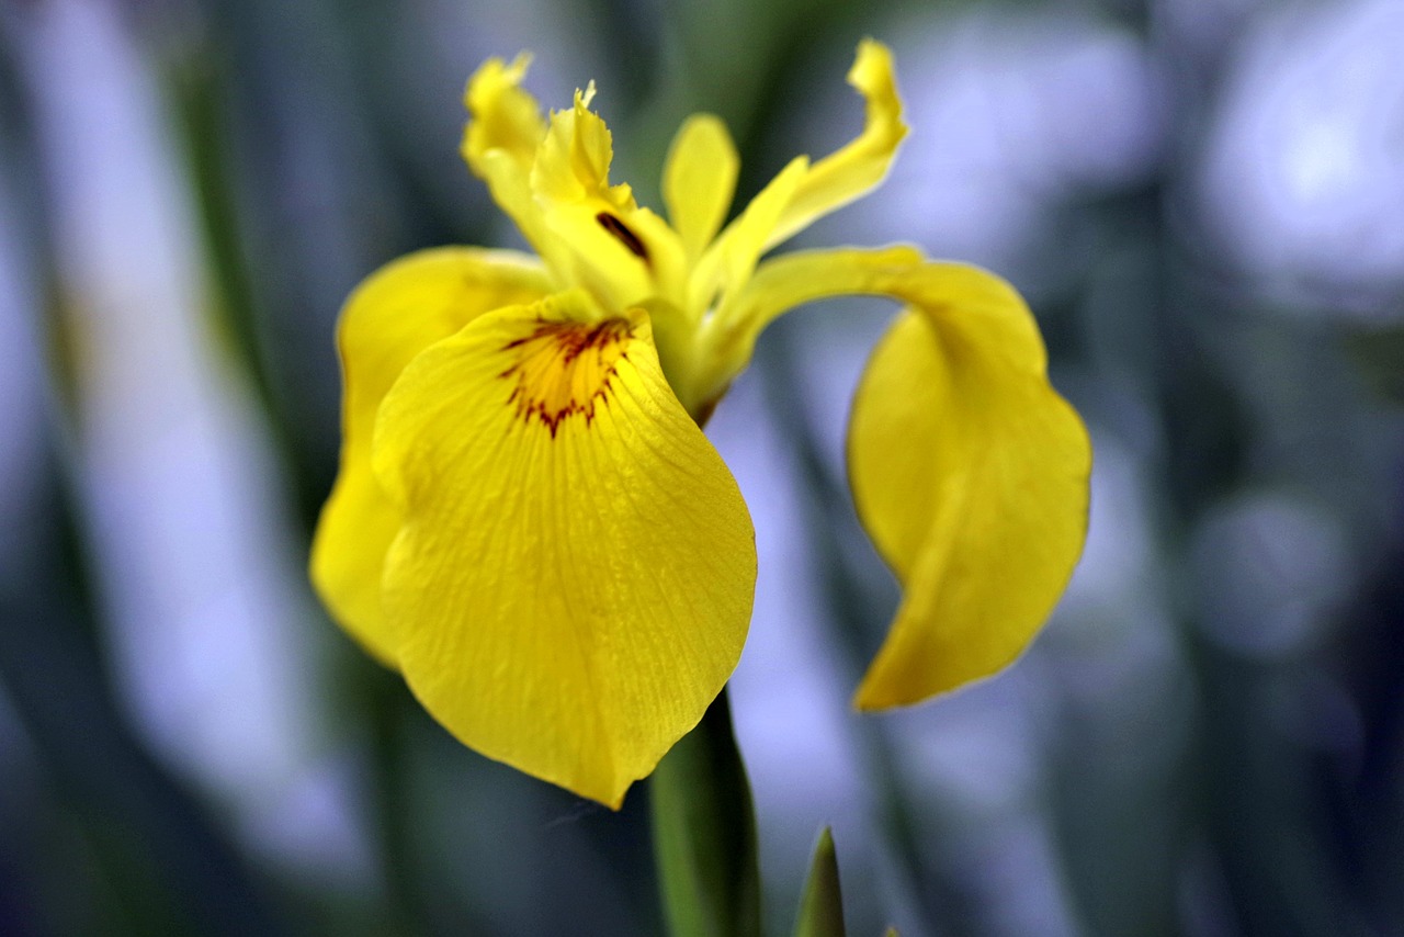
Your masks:
<path fill-rule="evenodd" d="M 819 218 L 862 197 L 887 176 L 907 135 L 892 52 L 873 39 L 858 45 L 848 83 L 863 96 L 863 131 L 842 149 L 814 163 L 765 240 L 774 247 Z"/>

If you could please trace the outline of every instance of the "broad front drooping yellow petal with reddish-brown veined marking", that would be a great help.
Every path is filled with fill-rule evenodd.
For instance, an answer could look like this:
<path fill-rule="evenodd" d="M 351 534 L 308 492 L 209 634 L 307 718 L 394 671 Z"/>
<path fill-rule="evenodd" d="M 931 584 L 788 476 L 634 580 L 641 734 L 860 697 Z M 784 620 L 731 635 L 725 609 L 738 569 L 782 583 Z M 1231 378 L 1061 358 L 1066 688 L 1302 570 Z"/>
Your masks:
<path fill-rule="evenodd" d="M 642 313 L 580 294 L 483 316 L 406 368 L 375 466 L 414 694 L 470 747 L 618 806 L 746 638 L 750 517 Z"/>

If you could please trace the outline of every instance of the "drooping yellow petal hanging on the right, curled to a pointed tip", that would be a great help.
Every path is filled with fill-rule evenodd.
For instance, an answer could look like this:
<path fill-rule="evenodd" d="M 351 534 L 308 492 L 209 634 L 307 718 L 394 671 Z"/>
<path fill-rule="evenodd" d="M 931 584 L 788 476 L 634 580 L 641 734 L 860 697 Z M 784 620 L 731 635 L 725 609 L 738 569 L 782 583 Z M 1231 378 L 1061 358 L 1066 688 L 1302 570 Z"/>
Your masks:
<path fill-rule="evenodd" d="M 910 308 L 863 375 L 848 457 L 903 603 L 858 690 L 865 709 L 990 676 L 1028 646 L 1082 551 L 1091 471 L 1008 284 L 929 264 L 883 287 Z"/>

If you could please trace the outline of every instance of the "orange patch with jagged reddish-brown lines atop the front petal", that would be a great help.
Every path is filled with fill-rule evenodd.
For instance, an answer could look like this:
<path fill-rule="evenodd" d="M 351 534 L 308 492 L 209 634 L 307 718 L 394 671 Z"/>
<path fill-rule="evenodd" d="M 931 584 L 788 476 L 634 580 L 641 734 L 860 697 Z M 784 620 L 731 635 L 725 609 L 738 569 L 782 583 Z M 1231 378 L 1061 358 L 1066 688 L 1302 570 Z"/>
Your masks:
<path fill-rule="evenodd" d="M 517 417 L 528 424 L 539 420 L 552 438 L 570 416 L 584 416 L 588 427 L 595 403 L 611 392 L 615 365 L 628 357 L 630 337 L 628 322 L 605 319 L 598 325 L 538 322 L 529 334 L 508 341 L 503 350 L 514 361 L 498 376 L 517 382 L 507 399 L 517 406 Z"/>

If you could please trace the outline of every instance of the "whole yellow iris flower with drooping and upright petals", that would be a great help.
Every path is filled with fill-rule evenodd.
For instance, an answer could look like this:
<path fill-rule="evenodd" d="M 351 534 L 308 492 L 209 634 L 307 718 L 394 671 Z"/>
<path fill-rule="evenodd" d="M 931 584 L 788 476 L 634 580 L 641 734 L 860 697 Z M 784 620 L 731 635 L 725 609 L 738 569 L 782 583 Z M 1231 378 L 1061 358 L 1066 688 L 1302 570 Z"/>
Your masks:
<path fill-rule="evenodd" d="M 444 247 L 341 313 L 344 448 L 312 576 L 465 745 L 618 806 L 701 719 L 746 641 L 755 538 L 699 428 L 788 309 L 896 299 L 854 403 L 858 513 L 904 587 L 856 705 L 1008 664 L 1061 593 L 1091 448 L 1019 295 L 913 247 L 771 247 L 875 187 L 906 133 L 889 51 L 862 133 L 789 163 L 730 223 L 737 155 L 695 115 L 664 221 L 611 185 L 594 87 L 543 119 L 526 58 L 470 79 L 469 167 L 536 250 Z"/>

